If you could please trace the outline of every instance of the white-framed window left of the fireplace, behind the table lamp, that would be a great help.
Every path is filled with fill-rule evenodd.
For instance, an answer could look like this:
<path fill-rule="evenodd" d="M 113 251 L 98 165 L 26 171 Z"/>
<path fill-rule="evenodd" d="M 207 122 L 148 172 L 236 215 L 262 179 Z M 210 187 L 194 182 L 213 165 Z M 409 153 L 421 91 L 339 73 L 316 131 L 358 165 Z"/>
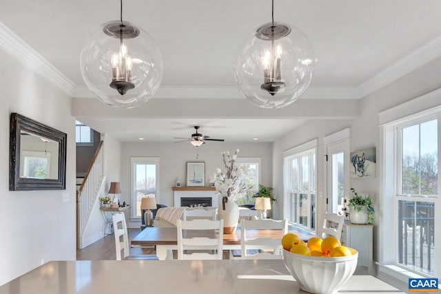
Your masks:
<path fill-rule="evenodd" d="M 156 197 L 159 193 L 159 158 L 132 157 L 132 217 L 141 218 L 141 198 Z"/>

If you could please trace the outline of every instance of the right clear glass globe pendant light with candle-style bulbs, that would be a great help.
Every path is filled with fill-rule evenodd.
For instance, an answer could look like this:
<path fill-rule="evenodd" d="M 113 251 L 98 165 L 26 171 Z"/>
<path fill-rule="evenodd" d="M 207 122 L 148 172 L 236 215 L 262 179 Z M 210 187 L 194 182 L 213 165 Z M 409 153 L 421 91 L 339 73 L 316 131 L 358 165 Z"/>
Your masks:
<path fill-rule="evenodd" d="M 272 21 L 256 28 L 240 45 L 234 79 L 251 103 L 263 108 L 285 107 L 311 83 L 314 52 L 303 32 Z"/>

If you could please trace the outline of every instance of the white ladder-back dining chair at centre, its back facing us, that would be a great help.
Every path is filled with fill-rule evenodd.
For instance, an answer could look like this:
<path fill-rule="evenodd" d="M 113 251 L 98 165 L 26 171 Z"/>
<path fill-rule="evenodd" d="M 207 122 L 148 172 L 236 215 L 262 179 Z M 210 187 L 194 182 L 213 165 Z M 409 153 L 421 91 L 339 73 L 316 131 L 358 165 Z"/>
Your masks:
<path fill-rule="evenodd" d="M 178 220 L 176 227 L 178 260 L 222 260 L 223 220 Z"/>

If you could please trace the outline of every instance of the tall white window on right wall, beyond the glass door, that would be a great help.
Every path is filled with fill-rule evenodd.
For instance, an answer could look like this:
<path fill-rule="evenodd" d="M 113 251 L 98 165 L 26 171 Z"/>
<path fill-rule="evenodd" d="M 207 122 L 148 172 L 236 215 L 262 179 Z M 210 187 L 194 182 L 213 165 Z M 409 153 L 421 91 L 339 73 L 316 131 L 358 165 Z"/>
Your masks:
<path fill-rule="evenodd" d="M 316 145 L 316 141 L 303 147 L 311 145 Z M 290 222 L 311 231 L 316 230 L 316 152 L 314 147 L 285 156 L 285 203 L 289 203 L 285 215 Z"/>

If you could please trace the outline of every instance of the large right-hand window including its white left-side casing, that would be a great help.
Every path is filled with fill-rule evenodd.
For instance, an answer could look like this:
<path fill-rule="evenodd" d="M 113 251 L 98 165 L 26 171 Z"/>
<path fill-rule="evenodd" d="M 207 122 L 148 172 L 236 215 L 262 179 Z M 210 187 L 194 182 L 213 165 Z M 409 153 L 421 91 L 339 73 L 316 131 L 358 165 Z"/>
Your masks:
<path fill-rule="evenodd" d="M 394 158 L 386 159 L 384 172 L 393 171 L 396 174 L 395 187 L 385 180 L 386 191 L 391 191 L 385 197 L 394 198 L 390 202 L 393 207 L 385 209 L 396 211 L 394 263 L 408 271 L 429 276 L 441 270 L 441 265 L 437 265 L 435 259 L 440 254 L 440 249 L 435 249 L 435 231 L 438 227 L 435 207 L 440 205 L 440 114 L 431 112 L 404 118 L 388 125 L 384 132 L 384 154 L 386 158 Z"/>

